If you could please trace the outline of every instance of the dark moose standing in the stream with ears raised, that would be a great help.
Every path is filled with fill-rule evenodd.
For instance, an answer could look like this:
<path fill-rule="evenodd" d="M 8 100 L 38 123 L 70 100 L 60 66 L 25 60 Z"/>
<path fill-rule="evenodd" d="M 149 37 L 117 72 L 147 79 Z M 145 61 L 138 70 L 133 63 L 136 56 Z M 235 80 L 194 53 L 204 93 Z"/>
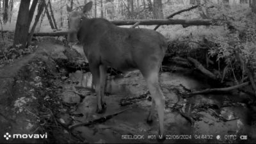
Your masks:
<path fill-rule="evenodd" d="M 164 95 L 159 86 L 159 68 L 167 49 L 163 35 L 152 29 L 120 28 L 106 19 L 86 17 L 92 8 L 92 1 L 83 10 L 69 14 L 68 42 L 79 40 L 88 59 L 93 84 L 97 94 L 97 113 L 106 109 L 104 88 L 107 68 L 121 72 L 140 70 L 147 81 L 152 97 L 152 106 L 147 122 L 152 122 L 155 107 L 159 118 L 159 135 L 164 134 Z"/>

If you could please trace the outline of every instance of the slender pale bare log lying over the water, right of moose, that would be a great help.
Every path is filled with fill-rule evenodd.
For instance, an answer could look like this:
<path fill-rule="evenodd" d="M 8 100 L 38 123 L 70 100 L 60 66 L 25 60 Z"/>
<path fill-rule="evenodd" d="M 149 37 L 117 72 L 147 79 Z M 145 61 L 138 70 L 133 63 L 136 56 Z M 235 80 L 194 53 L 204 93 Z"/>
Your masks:
<path fill-rule="evenodd" d="M 237 88 L 241 88 L 243 86 L 248 86 L 250 84 L 250 82 L 246 82 L 246 83 L 241 83 L 241 84 L 237 84 L 235 86 L 230 86 L 227 88 L 207 88 L 206 90 L 200 90 L 200 91 L 195 91 L 195 92 L 191 92 L 188 93 L 188 95 L 197 95 L 197 94 L 202 94 L 202 93 L 211 93 L 211 92 L 228 92 L 231 90 L 236 90 Z"/>

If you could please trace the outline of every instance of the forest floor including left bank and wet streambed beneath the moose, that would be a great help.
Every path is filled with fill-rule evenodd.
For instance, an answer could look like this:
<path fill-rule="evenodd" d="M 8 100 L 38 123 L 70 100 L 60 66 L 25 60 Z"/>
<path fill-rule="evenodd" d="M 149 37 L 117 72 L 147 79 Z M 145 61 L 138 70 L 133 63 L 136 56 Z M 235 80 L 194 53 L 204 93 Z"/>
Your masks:
<path fill-rule="evenodd" d="M 74 61 L 84 62 L 75 49 L 45 40 L 33 54 L 0 68 L 0 125 L 3 125 L 0 142 L 7 142 L 3 138 L 6 132 L 47 132 L 48 138 L 43 140 L 10 138 L 8 141 L 156 143 L 157 113 L 154 122 L 147 124 L 151 101 L 140 72 L 108 76 L 107 109 L 98 114 L 95 113 L 95 93 L 91 90 L 92 75 L 88 70 L 68 69 Z M 186 95 L 188 90 L 211 88 L 211 83 L 203 76 L 188 72 L 161 72 L 160 83 L 166 97 L 164 128 L 168 136 L 164 143 L 255 142 L 256 109 L 246 103 L 249 95 Z M 70 125 L 99 118 L 94 124 L 69 129 Z M 125 135 L 138 134 L 142 139 L 124 139 Z M 232 135 L 237 135 L 237 140 L 231 138 Z M 240 140 L 240 135 L 247 135 L 248 140 Z"/>

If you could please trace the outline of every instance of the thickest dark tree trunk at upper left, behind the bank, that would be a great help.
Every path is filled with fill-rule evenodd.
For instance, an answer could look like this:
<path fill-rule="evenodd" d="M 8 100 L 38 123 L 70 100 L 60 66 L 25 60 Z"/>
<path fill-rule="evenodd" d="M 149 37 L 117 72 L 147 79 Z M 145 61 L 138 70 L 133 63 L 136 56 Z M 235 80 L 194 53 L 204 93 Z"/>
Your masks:
<path fill-rule="evenodd" d="M 20 45 L 21 48 L 26 47 L 28 37 L 28 20 L 29 20 L 29 4 L 30 0 L 21 0 L 15 28 L 13 47 Z"/>

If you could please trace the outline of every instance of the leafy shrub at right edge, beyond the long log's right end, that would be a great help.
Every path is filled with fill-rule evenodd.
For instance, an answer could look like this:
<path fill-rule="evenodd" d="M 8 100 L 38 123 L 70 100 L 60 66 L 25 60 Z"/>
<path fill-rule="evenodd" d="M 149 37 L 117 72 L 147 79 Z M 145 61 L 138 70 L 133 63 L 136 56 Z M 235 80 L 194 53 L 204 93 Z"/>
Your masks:
<path fill-rule="evenodd" d="M 207 39 L 214 43 L 209 49 L 211 56 L 216 56 L 216 61 L 224 61 L 226 66 L 232 68 L 234 80 L 244 77 L 244 68 L 250 67 L 256 70 L 256 36 L 255 36 L 255 14 L 251 13 L 246 6 L 221 6 L 214 12 L 216 19 L 225 19 L 230 22 L 225 26 L 223 35 L 209 35 Z M 247 17 L 244 17 L 246 15 Z M 238 57 L 237 57 L 238 56 Z M 242 61 L 240 61 L 240 58 Z M 236 73 L 236 74 L 235 74 Z"/>

